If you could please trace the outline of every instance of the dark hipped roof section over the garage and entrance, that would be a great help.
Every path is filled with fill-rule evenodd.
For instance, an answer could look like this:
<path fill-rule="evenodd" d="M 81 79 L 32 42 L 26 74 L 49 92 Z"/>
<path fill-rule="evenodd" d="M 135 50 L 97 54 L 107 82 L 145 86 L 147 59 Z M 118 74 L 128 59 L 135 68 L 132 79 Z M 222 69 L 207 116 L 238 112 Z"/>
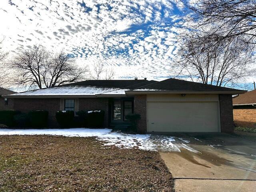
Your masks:
<path fill-rule="evenodd" d="M 238 90 L 196 82 L 190 82 L 185 80 L 178 80 L 174 78 L 166 79 L 160 82 L 155 82 L 150 85 L 142 86 L 140 88 L 135 88 L 133 90 L 127 91 L 126 93 L 142 93 L 142 92 L 177 92 L 177 93 L 202 93 L 202 92 L 223 92 L 223 93 L 245 93 L 245 90 Z"/>

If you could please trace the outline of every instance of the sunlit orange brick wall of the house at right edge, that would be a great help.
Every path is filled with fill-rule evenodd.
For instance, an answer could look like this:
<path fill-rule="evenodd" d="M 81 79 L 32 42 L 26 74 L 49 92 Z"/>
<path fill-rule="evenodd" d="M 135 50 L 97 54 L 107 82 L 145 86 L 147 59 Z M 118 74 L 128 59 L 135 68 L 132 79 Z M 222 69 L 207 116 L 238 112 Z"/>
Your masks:
<path fill-rule="evenodd" d="M 256 128 L 256 108 L 233 109 L 233 116 L 235 126 Z"/>

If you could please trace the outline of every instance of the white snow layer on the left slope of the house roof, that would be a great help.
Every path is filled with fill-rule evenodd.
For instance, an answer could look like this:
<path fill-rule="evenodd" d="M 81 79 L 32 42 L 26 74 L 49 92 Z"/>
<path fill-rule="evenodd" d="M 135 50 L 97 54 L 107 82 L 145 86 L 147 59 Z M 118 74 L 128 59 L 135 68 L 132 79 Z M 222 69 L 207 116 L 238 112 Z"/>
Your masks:
<path fill-rule="evenodd" d="M 111 92 L 116 88 L 104 88 L 96 86 L 60 86 L 46 89 L 38 89 L 22 93 L 15 93 L 12 96 L 52 96 L 52 95 L 89 95 L 93 96 L 105 92 Z M 125 94 L 125 93 L 124 93 Z"/>

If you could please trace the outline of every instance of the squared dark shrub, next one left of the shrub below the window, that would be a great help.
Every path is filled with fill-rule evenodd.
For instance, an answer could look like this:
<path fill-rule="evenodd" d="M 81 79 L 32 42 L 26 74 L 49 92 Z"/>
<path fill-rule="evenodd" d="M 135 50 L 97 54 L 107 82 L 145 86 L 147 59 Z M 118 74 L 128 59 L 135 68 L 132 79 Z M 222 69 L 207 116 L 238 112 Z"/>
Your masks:
<path fill-rule="evenodd" d="M 29 126 L 36 128 L 47 127 L 48 111 L 36 110 L 28 112 Z"/>

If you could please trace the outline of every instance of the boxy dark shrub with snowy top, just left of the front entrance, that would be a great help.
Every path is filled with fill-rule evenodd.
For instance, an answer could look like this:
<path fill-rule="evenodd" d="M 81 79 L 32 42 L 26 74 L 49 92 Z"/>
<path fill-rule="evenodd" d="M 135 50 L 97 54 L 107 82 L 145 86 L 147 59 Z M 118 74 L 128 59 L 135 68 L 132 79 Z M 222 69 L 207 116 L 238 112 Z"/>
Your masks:
<path fill-rule="evenodd" d="M 104 125 L 104 111 L 92 110 L 87 111 L 87 126 L 88 127 L 103 127 Z"/>

